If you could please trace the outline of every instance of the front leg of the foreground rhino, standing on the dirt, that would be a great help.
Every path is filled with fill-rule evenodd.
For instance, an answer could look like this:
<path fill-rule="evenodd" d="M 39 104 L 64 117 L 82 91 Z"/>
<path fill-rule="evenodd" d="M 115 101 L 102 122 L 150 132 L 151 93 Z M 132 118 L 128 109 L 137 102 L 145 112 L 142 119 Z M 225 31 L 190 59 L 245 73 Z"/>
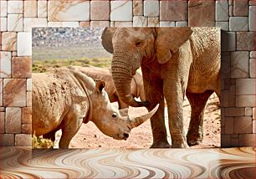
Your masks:
<path fill-rule="evenodd" d="M 64 123 L 62 135 L 59 140 L 59 148 L 68 149 L 69 143 L 82 125 L 83 118 L 73 118 Z"/>

